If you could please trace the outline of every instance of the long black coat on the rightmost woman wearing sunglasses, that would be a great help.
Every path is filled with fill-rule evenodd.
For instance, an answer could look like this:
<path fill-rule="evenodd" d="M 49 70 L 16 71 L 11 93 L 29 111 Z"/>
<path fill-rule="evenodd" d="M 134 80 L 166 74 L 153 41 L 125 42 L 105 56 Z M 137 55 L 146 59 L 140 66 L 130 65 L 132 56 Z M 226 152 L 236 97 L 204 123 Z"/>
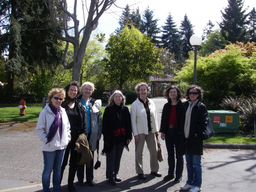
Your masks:
<path fill-rule="evenodd" d="M 190 155 L 202 155 L 203 154 L 203 140 L 201 134 L 207 126 L 207 109 L 206 106 L 198 101 L 191 111 L 190 117 L 190 130 L 188 138 L 185 138 L 184 125 L 186 118 L 186 111 L 188 109 L 189 103 L 186 101 L 183 108 L 182 120 L 180 122 L 180 134 L 181 134 L 181 152 L 184 154 L 185 146 L 187 144 L 188 154 Z M 197 134 L 197 136 L 195 136 Z"/>

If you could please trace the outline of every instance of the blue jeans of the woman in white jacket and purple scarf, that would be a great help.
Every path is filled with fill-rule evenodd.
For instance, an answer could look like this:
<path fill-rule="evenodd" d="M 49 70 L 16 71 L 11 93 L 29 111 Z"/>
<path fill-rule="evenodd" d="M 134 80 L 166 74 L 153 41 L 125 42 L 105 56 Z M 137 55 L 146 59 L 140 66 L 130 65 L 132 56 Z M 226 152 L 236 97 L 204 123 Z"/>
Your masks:
<path fill-rule="evenodd" d="M 44 170 L 42 173 L 43 192 L 50 192 L 50 178 L 52 175 L 53 192 L 60 191 L 60 172 L 65 149 L 56 151 L 43 151 Z"/>

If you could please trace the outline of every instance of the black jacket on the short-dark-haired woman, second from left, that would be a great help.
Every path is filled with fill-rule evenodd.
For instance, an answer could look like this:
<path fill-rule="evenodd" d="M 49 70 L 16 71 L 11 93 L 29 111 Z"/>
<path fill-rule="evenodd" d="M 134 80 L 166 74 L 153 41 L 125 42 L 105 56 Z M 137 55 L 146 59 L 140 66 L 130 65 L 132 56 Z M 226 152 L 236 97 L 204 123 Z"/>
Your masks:
<path fill-rule="evenodd" d="M 62 105 L 64 109 L 69 107 L 68 105 L 64 104 Z M 71 135 L 71 141 L 70 142 L 76 142 L 78 136 L 82 133 L 84 133 L 87 137 L 87 124 L 86 124 L 86 118 L 85 118 L 85 109 L 82 106 L 80 100 L 76 98 L 74 108 L 76 109 L 76 112 L 78 114 L 78 121 L 79 121 L 79 130 L 72 128 L 72 125 L 70 124 L 70 135 Z"/>

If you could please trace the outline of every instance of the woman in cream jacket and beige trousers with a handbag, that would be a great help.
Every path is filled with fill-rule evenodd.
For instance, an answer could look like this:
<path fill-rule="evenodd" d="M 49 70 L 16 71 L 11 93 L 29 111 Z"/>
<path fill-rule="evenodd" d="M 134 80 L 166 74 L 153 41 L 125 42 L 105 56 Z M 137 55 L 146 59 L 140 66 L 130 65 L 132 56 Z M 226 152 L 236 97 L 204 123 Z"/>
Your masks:
<path fill-rule="evenodd" d="M 157 160 L 158 124 L 156 117 L 156 107 L 152 100 L 147 98 L 150 93 L 150 87 L 146 83 L 139 83 L 135 86 L 135 91 L 139 98 L 132 103 L 131 121 L 132 133 L 135 140 L 135 168 L 138 177 L 146 179 L 142 169 L 142 153 L 146 141 L 150 153 L 151 174 L 156 177 L 162 175 L 158 172 L 159 164 Z"/>

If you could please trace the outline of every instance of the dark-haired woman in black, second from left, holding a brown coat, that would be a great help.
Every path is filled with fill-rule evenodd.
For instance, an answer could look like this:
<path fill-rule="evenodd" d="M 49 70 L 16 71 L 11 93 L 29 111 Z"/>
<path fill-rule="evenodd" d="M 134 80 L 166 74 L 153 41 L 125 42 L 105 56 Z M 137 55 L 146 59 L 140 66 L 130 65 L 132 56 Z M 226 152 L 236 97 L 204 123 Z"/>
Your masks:
<path fill-rule="evenodd" d="M 65 90 L 66 99 L 63 102 L 62 107 L 66 110 L 68 120 L 70 122 L 71 140 L 64 154 L 64 159 L 61 166 L 60 182 L 62 181 L 63 173 L 66 165 L 68 164 L 68 157 L 70 154 L 68 190 L 70 192 L 75 192 L 76 189 L 74 188 L 74 178 L 76 176 L 76 170 L 78 167 L 76 164 L 78 154 L 74 149 L 76 148 L 76 140 L 78 139 L 78 136 L 83 133 L 87 136 L 87 126 L 85 119 L 85 109 L 82 106 L 80 100 L 76 98 L 76 96 L 80 93 L 79 83 L 77 81 L 72 81 L 65 87 Z"/>

